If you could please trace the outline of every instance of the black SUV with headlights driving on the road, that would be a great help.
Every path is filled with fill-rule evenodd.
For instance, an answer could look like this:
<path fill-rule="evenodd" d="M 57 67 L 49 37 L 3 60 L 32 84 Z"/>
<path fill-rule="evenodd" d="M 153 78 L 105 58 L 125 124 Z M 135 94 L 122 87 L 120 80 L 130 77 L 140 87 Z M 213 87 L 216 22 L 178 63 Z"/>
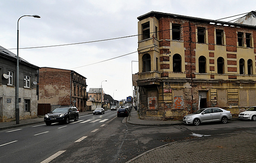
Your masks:
<path fill-rule="evenodd" d="M 44 122 L 49 126 L 54 122 L 69 123 L 69 120 L 78 121 L 79 111 L 75 106 L 61 106 L 44 116 Z"/>

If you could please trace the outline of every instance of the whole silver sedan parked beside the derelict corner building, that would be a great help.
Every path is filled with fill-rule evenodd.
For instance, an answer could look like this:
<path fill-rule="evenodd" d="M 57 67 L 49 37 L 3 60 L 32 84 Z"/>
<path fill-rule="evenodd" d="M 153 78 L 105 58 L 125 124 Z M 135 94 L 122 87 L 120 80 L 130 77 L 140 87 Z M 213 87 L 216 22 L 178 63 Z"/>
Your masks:
<path fill-rule="evenodd" d="M 183 117 L 183 123 L 199 125 L 203 122 L 221 121 L 227 123 L 228 120 L 232 119 L 230 111 L 221 109 L 219 107 L 208 107 L 199 109 L 193 114 L 189 114 Z"/>

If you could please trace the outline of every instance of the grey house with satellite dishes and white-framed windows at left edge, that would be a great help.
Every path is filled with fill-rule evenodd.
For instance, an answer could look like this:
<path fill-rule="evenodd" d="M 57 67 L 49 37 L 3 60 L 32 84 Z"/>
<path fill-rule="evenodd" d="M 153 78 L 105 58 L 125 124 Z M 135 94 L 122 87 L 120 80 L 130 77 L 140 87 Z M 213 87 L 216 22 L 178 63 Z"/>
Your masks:
<path fill-rule="evenodd" d="M 17 56 L 0 47 L 0 122 L 16 119 L 16 67 Z M 20 119 L 37 118 L 37 83 L 40 67 L 20 58 L 19 69 Z"/>

